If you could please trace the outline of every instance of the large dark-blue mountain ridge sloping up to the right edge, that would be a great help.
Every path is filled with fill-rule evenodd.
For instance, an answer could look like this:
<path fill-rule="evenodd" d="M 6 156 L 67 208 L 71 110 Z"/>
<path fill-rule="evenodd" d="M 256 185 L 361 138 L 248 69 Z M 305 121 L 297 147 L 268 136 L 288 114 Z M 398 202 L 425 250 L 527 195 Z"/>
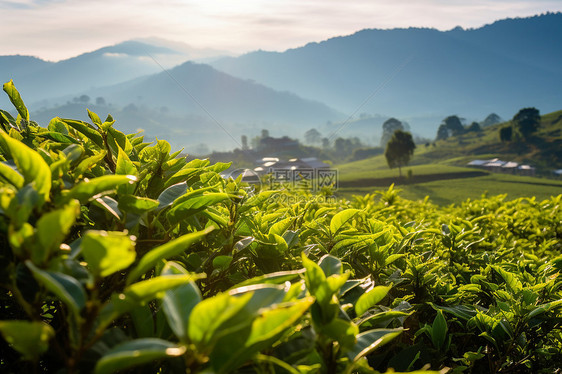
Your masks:
<path fill-rule="evenodd" d="M 257 51 L 211 65 L 344 113 L 407 120 L 435 136 L 451 114 L 511 118 L 522 107 L 562 102 L 562 13 L 479 29 L 362 30 L 285 52 Z"/>

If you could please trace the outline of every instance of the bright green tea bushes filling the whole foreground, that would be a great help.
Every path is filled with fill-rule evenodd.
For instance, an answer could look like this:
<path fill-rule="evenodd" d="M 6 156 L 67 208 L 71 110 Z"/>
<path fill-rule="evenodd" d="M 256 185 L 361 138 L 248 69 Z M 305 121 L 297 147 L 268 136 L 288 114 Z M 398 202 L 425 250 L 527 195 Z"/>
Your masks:
<path fill-rule="evenodd" d="M 562 370 L 561 195 L 254 190 L 4 90 L 2 372 Z"/>

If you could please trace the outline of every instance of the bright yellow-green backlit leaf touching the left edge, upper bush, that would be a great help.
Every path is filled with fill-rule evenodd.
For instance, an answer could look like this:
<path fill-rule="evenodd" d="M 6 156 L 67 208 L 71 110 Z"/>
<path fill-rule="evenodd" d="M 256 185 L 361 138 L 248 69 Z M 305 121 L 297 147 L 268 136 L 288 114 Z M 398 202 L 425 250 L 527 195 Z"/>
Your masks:
<path fill-rule="evenodd" d="M 4 131 L 0 131 L 0 142 L 23 175 L 24 184 L 34 183 L 42 201 L 49 201 L 51 168 L 43 157 L 22 142 L 8 136 Z"/>

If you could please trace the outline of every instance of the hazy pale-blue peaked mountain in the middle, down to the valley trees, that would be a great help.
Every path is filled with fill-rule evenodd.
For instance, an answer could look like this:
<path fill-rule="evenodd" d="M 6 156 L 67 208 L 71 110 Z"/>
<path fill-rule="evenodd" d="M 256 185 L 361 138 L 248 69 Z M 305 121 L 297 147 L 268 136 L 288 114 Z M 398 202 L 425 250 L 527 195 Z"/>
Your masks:
<path fill-rule="evenodd" d="M 166 138 L 177 147 L 206 142 L 215 150 L 240 147 L 241 135 L 255 136 L 263 128 L 272 129 L 273 136 L 300 137 L 311 127 L 344 119 L 343 114 L 319 102 L 192 62 L 82 94 L 103 97 L 112 106 L 69 102 L 32 113 L 32 117 L 40 123 L 53 116 L 87 120 L 88 106 L 101 110 L 100 116 L 110 111 L 122 131 L 143 128 L 151 138 L 169 134 Z"/>

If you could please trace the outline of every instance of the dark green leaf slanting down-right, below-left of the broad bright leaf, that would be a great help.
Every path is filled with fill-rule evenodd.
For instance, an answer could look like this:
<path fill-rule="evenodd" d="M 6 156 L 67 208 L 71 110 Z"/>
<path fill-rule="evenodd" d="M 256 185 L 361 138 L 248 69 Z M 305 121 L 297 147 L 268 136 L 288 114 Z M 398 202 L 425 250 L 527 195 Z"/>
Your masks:
<path fill-rule="evenodd" d="M 57 296 L 77 317 L 80 315 L 80 310 L 86 305 L 86 292 L 80 282 L 63 273 L 41 270 L 29 260 L 25 261 L 25 265 L 37 283 Z"/>

